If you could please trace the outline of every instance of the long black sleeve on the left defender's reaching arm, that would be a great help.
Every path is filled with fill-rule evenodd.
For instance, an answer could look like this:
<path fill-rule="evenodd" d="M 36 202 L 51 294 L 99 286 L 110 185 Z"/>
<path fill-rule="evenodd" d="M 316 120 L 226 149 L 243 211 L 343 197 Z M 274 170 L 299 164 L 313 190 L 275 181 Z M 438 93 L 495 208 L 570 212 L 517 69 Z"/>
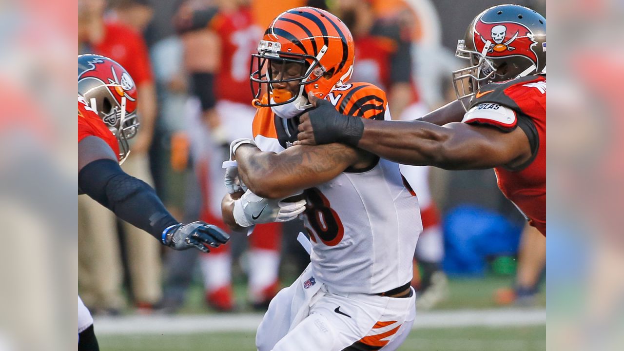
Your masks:
<path fill-rule="evenodd" d="M 158 241 L 165 228 L 178 223 L 150 185 L 125 173 L 113 160 L 99 159 L 84 166 L 78 174 L 78 186 L 117 217 Z"/>

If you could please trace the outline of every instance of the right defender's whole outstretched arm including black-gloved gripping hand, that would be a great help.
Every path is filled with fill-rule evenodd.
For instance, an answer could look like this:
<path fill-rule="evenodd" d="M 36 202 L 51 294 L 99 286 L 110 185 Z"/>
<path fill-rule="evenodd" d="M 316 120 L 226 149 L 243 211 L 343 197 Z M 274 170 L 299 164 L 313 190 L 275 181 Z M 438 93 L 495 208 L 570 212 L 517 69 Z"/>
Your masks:
<path fill-rule="evenodd" d="M 402 164 L 444 169 L 485 169 L 517 166 L 531 156 L 529 139 L 520 128 L 503 132 L 495 127 L 452 122 L 437 126 L 422 120 L 375 121 L 340 114 L 327 101 L 316 100 L 299 125 L 298 145 L 343 142 Z M 461 120 L 459 101 L 424 117 L 446 123 Z M 314 123 L 312 123 L 314 121 Z"/>

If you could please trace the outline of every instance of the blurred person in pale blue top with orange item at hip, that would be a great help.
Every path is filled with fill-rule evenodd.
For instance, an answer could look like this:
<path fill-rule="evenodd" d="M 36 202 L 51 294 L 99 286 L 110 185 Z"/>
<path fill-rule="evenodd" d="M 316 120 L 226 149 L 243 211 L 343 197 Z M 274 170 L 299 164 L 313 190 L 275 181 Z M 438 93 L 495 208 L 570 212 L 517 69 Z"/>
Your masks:
<path fill-rule="evenodd" d="M 182 2 L 150 0 L 156 11 L 145 28 L 144 37 L 150 50 L 158 98 L 150 167 L 154 175 L 154 187 L 167 209 L 183 220 L 193 220 L 200 217 L 197 199 L 201 194 L 189 158 L 187 129 L 190 114 L 187 112 L 187 102 L 190 84 L 184 61 L 184 43 L 173 21 Z M 124 16 L 119 15 L 119 9 L 115 12 L 124 21 Z M 206 53 L 201 54 L 205 56 Z M 187 267 L 196 266 L 198 255 L 197 250 L 167 250 L 164 253 L 163 299 L 155 308 L 173 312 L 182 305 L 195 272 Z"/>

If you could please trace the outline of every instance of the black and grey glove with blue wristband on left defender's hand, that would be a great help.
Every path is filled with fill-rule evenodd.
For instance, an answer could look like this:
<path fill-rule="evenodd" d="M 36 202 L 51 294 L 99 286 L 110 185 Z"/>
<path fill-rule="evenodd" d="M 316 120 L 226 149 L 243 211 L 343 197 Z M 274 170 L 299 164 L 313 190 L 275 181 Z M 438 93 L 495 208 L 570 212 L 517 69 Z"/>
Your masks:
<path fill-rule="evenodd" d="M 230 235 L 217 225 L 207 224 L 202 220 L 172 225 L 162 232 L 162 243 L 174 250 L 195 247 L 202 252 L 210 252 L 207 245 L 218 247 L 228 240 L 230 240 Z"/>

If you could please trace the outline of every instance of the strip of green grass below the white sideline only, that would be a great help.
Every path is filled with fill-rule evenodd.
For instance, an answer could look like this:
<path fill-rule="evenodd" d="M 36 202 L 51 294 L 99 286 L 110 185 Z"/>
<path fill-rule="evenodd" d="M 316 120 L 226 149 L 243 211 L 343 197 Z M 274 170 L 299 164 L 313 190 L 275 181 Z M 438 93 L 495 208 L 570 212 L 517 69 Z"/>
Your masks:
<path fill-rule="evenodd" d="M 254 351 L 253 333 L 190 335 L 105 335 L 102 351 Z M 412 330 L 401 351 L 540 351 L 546 327 Z"/>

